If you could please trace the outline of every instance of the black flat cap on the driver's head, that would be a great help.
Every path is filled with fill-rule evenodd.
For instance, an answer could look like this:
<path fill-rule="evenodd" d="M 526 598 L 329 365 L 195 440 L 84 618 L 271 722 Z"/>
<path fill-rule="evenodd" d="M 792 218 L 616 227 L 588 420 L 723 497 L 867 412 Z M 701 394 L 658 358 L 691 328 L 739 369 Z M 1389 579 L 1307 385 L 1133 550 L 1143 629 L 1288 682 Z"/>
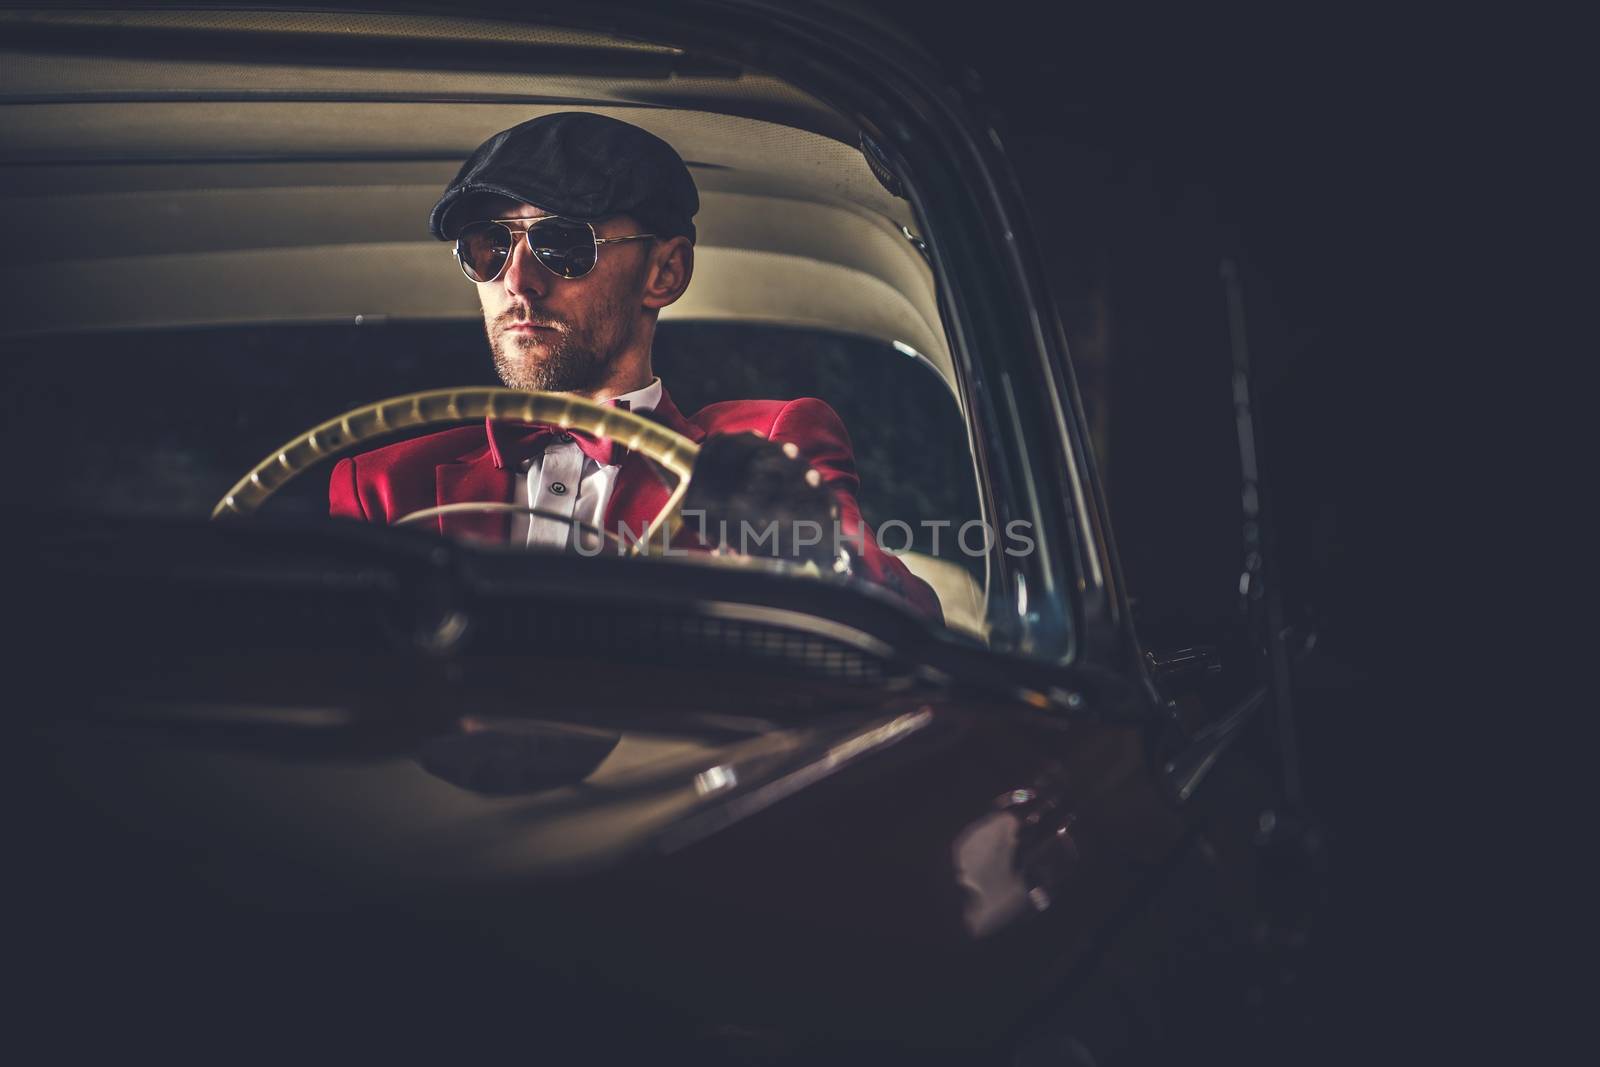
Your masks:
<path fill-rule="evenodd" d="M 445 195 L 429 229 L 454 240 L 474 194 L 512 197 L 552 214 L 598 222 L 632 214 L 661 237 L 694 240 L 699 192 L 683 157 L 653 133 L 605 115 L 558 112 L 502 130 L 480 144 Z"/>

